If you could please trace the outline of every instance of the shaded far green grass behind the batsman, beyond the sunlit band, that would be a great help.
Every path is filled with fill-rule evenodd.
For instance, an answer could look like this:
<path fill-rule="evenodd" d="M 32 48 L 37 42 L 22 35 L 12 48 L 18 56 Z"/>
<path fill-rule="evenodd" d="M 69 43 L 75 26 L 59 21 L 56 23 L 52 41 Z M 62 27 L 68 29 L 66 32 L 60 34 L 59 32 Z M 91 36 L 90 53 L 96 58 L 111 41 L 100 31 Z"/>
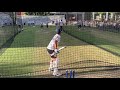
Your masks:
<path fill-rule="evenodd" d="M 15 38 L 15 42 L 11 46 L 11 48 L 16 48 L 16 47 L 47 47 L 48 43 L 52 39 L 52 37 L 56 33 L 56 28 L 53 26 L 49 28 L 42 28 L 40 26 L 36 27 L 25 27 L 25 30 L 23 33 L 19 34 Z M 113 49 L 119 49 L 120 48 L 120 34 L 116 33 L 114 34 L 113 32 L 106 32 L 106 31 L 100 31 L 98 29 L 93 29 L 93 28 L 81 28 L 81 30 L 78 30 L 76 26 L 69 26 L 69 27 L 64 27 L 64 32 L 62 33 L 61 37 L 61 43 L 60 45 L 65 45 L 66 46 L 79 46 L 79 45 L 97 45 L 104 47 L 103 45 L 109 45 L 112 46 Z M 66 36 L 66 33 L 71 35 L 69 36 L 69 41 L 68 37 Z M 74 38 L 79 39 L 78 43 L 72 43 Z M 84 43 L 79 43 L 82 42 Z M 64 44 L 62 43 L 64 42 Z M 65 43 L 66 42 L 66 43 Z M 86 43 L 85 43 L 86 42 Z M 108 47 L 108 48 L 109 48 Z M 111 48 L 111 47 L 110 47 Z"/>

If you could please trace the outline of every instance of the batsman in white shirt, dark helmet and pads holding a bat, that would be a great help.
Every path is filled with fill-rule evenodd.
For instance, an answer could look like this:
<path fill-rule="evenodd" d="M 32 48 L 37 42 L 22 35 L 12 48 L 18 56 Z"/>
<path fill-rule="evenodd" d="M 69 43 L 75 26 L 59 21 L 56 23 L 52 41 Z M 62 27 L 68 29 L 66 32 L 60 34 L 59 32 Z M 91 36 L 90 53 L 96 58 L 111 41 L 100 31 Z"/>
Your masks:
<path fill-rule="evenodd" d="M 58 44 L 61 39 L 61 32 L 62 30 L 60 28 L 57 29 L 56 35 L 54 35 L 49 45 L 47 46 L 47 51 L 51 57 L 49 71 L 53 71 L 54 76 L 62 75 L 60 72 L 58 72 L 59 58 L 57 57 L 57 53 L 59 53 Z"/>

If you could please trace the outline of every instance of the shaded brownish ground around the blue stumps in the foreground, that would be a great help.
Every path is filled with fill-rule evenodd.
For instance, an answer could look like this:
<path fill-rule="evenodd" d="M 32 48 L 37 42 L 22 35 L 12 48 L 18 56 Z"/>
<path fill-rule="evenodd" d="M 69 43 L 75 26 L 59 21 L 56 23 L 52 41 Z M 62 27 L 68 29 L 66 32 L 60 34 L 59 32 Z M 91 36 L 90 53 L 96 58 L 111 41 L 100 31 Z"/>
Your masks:
<path fill-rule="evenodd" d="M 103 67 L 101 66 L 100 68 L 104 68 L 104 66 Z M 76 70 L 76 68 L 70 68 L 70 69 Z M 117 67 L 110 66 L 109 68 L 104 68 L 104 69 L 94 69 L 94 70 L 89 70 L 89 71 L 75 72 L 75 78 L 120 78 L 119 75 L 120 75 L 120 66 L 117 66 Z M 21 78 L 24 78 L 24 77 L 21 77 Z M 45 74 L 45 75 L 36 75 L 32 77 L 28 76 L 28 78 L 66 78 L 66 74 L 64 70 L 63 75 L 59 77 L 52 76 L 52 74 L 51 75 Z"/>

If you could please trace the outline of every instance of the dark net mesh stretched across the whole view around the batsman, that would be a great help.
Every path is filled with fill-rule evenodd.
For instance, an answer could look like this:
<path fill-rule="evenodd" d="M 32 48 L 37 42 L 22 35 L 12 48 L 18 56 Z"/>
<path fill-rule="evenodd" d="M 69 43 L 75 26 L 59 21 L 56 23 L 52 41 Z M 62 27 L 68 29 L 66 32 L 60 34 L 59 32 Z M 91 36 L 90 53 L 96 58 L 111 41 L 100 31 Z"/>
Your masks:
<path fill-rule="evenodd" d="M 30 18 L 16 12 L 0 15 L 0 77 L 56 78 L 48 70 L 47 46 L 56 34 L 56 20 L 65 18 Z M 65 17 L 59 48 L 67 48 L 58 54 L 59 71 L 63 74 L 59 77 L 66 78 L 66 70 L 70 77 L 70 70 L 75 70 L 75 78 L 118 78 L 119 22 L 93 20 L 90 12 L 67 13 Z"/>

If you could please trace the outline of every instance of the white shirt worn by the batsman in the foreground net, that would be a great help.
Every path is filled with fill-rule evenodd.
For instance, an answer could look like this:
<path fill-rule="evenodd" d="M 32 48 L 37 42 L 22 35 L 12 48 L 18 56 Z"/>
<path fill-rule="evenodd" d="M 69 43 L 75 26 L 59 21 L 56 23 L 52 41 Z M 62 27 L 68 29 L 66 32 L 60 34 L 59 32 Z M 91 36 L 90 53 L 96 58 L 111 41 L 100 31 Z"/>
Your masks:
<path fill-rule="evenodd" d="M 61 38 L 61 36 L 60 36 L 59 34 L 56 34 L 56 35 L 52 38 L 52 40 L 50 41 L 49 45 L 47 46 L 47 49 L 49 49 L 49 50 L 54 50 L 54 49 L 55 49 L 55 48 L 54 48 L 55 41 L 57 40 L 58 43 L 59 43 L 59 42 L 60 42 L 60 38 Z"/>

